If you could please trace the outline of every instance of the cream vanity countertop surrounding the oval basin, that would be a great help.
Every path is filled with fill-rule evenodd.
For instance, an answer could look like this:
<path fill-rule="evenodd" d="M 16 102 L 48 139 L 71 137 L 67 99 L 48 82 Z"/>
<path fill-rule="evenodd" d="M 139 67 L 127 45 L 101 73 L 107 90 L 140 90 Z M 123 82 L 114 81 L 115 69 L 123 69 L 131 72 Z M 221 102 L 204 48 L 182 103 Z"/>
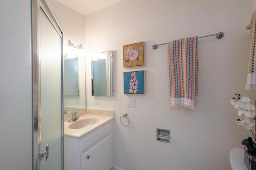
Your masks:
<path fill-rule="evenodd" d="M 80 116 L 79 119 L 83 119 L 83 118 L 86 118 L 86 117 L 98 117 L 98 118 L 100 118 L 100 120 L 97 123 L 95 123 L 94 125 L 86 126 L 84 128 L 81 128 L 81 129 L 69 129 L 68 126 L 71 123 L 75 123 L 75 121 L 70 122 L 70 123 L 68 123 L 68 121 L 66 121 L 66 122 L 64 122 L 64 135 L 80 138 L 83 135 L 86 135 L 87 133 L 89 133 L 90 131 L 96 129 L 97 127 L 100 127 L 101 125 L 103 125 L 103 124 L 107 123 L 108 121 L 114 119 L 113 116 L 95 115 L 95 114 L 85 114 L 85 115 Z"/>

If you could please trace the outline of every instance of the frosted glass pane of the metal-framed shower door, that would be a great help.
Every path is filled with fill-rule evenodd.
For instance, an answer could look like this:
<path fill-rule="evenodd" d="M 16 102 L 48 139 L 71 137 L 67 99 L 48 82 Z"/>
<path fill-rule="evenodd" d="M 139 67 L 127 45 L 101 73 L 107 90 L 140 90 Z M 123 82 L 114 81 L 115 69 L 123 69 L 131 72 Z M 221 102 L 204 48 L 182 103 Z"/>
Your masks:
<path fill-rule="evenodd" d="M 40 9 L 39 96 L 41 170 L 62 170 L 62 36 Z"/>

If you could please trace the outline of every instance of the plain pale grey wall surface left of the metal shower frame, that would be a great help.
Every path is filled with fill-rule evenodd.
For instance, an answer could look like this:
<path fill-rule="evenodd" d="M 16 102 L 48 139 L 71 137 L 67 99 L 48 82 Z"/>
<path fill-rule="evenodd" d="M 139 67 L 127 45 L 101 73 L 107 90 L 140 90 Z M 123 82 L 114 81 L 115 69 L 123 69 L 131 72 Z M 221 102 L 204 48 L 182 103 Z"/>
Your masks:
<path fill-rule="evenodd" d="M 30 6 L 30 0 L 0 1 L 1 170 L 32 170 Z"/>

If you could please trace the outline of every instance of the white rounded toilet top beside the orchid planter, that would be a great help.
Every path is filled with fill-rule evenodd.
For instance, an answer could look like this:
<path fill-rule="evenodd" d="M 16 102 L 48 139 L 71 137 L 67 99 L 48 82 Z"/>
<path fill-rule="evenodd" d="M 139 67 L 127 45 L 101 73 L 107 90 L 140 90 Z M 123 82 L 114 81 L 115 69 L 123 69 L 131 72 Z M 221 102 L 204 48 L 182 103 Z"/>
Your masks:
<path fill-rule="evenodd" d="M 244 149 L 233 148 L 229 153 L 229 162 L 232 170 L 248 170 L 244 164 Z"/>

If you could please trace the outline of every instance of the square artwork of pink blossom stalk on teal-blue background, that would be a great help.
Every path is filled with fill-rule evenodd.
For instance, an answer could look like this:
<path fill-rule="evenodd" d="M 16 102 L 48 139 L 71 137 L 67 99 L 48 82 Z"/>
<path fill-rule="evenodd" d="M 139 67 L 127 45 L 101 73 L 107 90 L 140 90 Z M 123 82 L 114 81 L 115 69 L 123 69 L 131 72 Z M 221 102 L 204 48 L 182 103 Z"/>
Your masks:
<path fill-rule="evenodd" d="M 124 72 L 124 94 L 145 94 L 145 70 Z"/>

